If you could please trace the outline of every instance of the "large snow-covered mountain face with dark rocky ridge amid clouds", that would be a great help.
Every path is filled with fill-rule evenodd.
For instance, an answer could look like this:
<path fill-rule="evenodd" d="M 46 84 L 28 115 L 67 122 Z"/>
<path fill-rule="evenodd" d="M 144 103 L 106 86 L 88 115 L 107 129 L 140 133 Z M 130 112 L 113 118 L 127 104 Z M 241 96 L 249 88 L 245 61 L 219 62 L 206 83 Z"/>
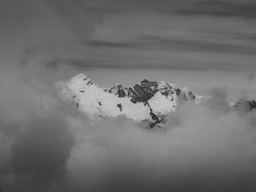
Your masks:
<path fill-rule="evenodd" d="M 165 81 L 141 80 L 128 88 L 120 84 L 99 88 L 85 74 L 59 82 L 58 87 L 62 99 L 75 101 L 90 118 L 127 115 L 137 122 L 147 120 L 151 127 L 161 123 L 168 112 L 175 112 L 179 101 L 199 103 L 205 98 Z"/>

